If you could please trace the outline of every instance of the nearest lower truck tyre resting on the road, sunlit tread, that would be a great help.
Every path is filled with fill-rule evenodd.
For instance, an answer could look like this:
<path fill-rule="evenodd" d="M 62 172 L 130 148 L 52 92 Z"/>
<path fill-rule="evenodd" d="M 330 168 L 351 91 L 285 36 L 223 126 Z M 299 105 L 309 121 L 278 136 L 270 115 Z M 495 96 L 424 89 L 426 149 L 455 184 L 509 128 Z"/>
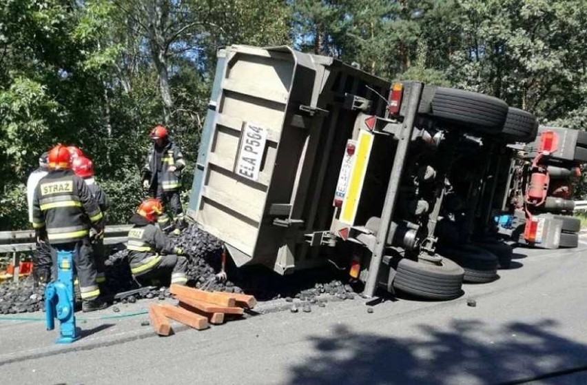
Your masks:
<path fill-rule="evenodd" d="M 464 270 L 450 259 L 440 265 L 427 261 L 400 259 L 393 287 L 425 299 L 454 299 L 462 295 Z"/>

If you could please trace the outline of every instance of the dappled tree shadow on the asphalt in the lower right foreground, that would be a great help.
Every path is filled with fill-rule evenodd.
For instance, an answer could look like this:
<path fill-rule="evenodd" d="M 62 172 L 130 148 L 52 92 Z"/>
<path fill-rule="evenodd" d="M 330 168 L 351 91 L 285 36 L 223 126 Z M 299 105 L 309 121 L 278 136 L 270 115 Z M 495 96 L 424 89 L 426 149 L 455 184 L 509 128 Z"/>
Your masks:
<path fill-rule="evenodd" d="M 449 332 L 421 325 L 418 338 L 338 326 L 312 337 L 313 353 L 291 368 L 289 384 L 500 384 L 584 366 L 587 345 L 548 331 L 556 324 L 454 321 Z"/>

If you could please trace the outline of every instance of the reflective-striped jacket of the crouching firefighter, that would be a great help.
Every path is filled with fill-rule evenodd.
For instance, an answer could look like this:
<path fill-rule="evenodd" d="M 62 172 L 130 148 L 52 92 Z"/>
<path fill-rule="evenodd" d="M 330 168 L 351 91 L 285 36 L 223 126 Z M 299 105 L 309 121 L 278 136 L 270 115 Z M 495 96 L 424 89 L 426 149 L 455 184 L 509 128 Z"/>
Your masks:
<path fill-rule="evenodd" d="M 127 243 L 130 271 L 141 275 L 156 268 L 162 255 L 174 253 L 175 248 L 160 228 L 141 215 L 133 215 L 130 222 L 134 224 Z"/>

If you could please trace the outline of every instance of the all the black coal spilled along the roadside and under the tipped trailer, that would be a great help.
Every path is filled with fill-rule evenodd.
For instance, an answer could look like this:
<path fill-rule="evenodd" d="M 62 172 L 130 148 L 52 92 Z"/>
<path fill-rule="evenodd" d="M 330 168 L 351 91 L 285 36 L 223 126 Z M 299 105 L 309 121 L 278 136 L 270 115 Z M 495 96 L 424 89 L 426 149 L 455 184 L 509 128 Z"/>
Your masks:
<path fill-rule="evenodd" d="M 236 268 L 227 257 L 227 274 L 229 280 L 218 279 L 221 269 L 222 243 L 214 236 L 190 224 L 180 235 L 171 237 L 174 246 L 183 248 L 188 259 L 189 286 L 208 291 L 225 291 L 228 293 L 247 293 L 261 301 L 286 299 L 300 304 L 302 311 L 307 311 L 306 304 L 324 306 L 327 298 L 353 299 L 356 288 L 351 287 L 345 271 L 332 266 L 302 270 L 292 275 L 281 276 L 265 266 L 243 266 Z M 103 295 L 114 298 L 117 293 L 125 293 L 143 286 L 138 293 L 132 293 L 116 299 L 114 302 L 136 302 L 138 299 L 163 300 L 171 293 L 166 286 L 169 281 L 136 282 L 130 273 L 127 250 L 123 245 L 112 248 L 105 264 L 107 282 Z M 147 288 L 145 288 L 147 286 Z M 152 287 L 151 287 L 152 286 Z M 102 287 L 104 288 L 104 287 Z M 0 285 L 0 313 L 17 314 L 43 310 L 44 286 L 34 288 L 32 277 L 21 280 L 18 284 L 5 282 Z"/>

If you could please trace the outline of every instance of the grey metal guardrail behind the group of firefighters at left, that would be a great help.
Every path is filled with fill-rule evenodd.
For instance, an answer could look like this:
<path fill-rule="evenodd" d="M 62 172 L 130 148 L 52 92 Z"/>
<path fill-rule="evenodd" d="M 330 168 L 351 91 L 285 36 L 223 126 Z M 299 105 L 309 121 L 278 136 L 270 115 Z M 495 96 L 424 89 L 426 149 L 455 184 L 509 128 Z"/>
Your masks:
<path fill-rule="evenodd" d="M 106 226 L 104 244 L 125 242 L 132 225 Z M 34 230 L 0 231 L 0 254 L 31 251 L 35 248 Z"/>

